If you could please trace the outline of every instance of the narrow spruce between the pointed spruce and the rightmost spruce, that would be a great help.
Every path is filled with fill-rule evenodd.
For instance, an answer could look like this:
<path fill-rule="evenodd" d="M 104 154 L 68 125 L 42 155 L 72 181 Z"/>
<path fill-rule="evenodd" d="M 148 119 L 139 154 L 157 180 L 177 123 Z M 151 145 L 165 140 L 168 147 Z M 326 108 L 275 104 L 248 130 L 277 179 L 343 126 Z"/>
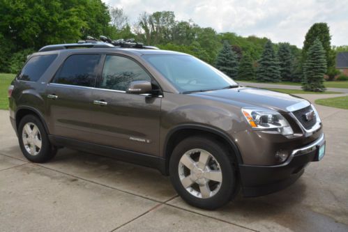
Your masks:
<path fill-rule="evenodd" d="M 290 47 L 286 43 L 281 43 L 278 49 L 278 60 L 280 67 L 280 77 L 282 81 L 292 82 L 293 56 Z"/>

